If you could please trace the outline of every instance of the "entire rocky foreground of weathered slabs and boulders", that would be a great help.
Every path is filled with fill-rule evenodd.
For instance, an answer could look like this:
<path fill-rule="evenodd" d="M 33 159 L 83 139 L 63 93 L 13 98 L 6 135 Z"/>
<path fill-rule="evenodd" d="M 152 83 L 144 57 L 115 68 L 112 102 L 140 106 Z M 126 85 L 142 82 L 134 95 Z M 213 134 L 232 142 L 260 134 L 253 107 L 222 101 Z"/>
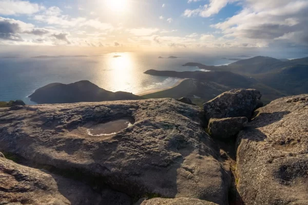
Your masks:
<path fill-rule="evenodd" d="M 260 97 L 1 108 L 0 204 L 308 204 L 308 95 Z"/>

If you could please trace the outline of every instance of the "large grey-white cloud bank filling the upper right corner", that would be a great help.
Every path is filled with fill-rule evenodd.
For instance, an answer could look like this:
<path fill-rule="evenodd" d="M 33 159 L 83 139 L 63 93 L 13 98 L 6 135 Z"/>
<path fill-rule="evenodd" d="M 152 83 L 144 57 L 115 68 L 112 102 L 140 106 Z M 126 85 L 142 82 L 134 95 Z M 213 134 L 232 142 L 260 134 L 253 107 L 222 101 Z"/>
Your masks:
<path fill-rule="evenodd" d="M 241 4 L 238 14 L 211 27 L 220 29 L 225 37 L 261 45 L 308 45 L 308 1 L 246 0 Z"/>

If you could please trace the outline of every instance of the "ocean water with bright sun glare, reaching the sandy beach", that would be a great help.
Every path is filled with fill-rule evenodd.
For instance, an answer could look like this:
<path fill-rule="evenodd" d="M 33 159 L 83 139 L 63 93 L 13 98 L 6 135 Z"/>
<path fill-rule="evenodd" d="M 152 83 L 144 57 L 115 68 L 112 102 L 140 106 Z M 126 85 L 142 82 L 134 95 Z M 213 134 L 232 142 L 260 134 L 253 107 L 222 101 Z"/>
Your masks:
<path fill-rule="evenodd" d="M 218 66 L 234 62 L 202 55 L 182 54 L 178 57 L 171 59 L 149 54 L 108 53 L 88 57 L 0 58 L 0 101 L 22 99 L 26 104 L 35 104 L 27 96 L 36 89 L 50 83 L 69 84 L 79 80 L 89 80 L 113 92 L 139 94 L 171 87 L 179 80 L 147 75 L 143 73 L 146 70 L 195 71 L 200 69 L 182 65 L 195 62 Z"/>

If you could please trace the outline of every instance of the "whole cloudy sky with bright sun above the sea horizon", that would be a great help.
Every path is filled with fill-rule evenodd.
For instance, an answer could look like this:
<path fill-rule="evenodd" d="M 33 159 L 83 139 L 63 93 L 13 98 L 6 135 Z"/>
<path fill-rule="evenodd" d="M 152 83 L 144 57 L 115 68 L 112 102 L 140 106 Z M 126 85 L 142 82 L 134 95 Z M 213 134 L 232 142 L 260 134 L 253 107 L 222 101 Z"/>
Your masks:
<path fill-rule="evenodd" d="M 0 48 L 308 55 L 308 0 L 0 0 Z"/>

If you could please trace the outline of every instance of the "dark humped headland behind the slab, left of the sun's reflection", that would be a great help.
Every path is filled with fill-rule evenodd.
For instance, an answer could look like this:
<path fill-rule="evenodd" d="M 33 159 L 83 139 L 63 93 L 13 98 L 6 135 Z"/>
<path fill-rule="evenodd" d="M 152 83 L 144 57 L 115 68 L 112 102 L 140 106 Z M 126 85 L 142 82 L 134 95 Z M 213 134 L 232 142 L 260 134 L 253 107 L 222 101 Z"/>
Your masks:
<path fill-rule="evenodd" d="M 143 99 L 138 95 L 133 95 L 128 92 L 111 92 L 104 90 L 88 80 L 82 80 L 72 84 L 52 83 L 35 90 L 29 98 L 31 101 L 38 104 Z"/>

